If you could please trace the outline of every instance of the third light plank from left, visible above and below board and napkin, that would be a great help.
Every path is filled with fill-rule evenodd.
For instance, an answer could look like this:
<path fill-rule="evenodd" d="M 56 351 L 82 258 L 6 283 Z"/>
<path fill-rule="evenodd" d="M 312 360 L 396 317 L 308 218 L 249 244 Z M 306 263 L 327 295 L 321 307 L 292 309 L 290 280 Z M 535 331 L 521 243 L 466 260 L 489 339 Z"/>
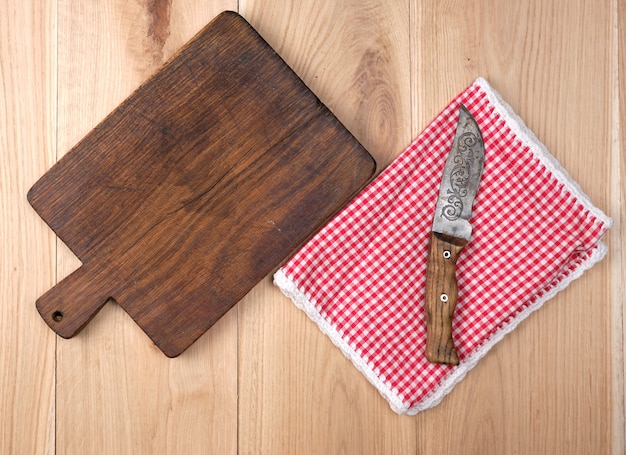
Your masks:
<path fill-rule="evenodd" d="M 406 1 L 241 1 L 379 166 L 410 141 Z M 239 304 L 241 453 L 413 453 L 386 401 L 266 278 Z"/>

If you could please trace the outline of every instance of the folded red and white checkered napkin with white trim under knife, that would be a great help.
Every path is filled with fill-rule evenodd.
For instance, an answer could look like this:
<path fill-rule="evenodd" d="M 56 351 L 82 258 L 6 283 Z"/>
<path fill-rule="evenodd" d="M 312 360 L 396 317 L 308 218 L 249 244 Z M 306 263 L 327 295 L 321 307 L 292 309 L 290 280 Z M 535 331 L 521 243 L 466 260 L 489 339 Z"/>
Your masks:
<path fill-rule="evenodd" d="M 461 363 L 424 357 L 428 239 L 463 103 L 485 167 L 472 238 L 457 264 L 453 338 Z M 611 220 L 484 79 L 477 79 L 274 281 L 389 401 L 415 414 L 449 393 L 489 349 L 606 253 Z"/>

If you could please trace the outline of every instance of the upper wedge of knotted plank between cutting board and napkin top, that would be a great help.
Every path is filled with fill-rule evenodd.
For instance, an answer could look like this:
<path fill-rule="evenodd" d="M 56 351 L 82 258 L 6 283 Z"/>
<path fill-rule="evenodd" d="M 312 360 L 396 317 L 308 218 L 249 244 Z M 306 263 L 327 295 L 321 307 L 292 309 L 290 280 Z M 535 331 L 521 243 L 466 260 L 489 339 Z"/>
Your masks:
<path fill-rule="evenodd" d="M 240 1 L 240 13 L 384 168 L 409 130 L 408 4 Z"/>

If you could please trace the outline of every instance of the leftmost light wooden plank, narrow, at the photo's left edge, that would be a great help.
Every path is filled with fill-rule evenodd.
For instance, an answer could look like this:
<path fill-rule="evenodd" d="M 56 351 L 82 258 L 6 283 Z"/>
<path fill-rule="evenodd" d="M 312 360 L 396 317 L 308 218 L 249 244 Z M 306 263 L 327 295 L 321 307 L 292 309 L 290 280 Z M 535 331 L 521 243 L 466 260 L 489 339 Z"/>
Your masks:
<path fill-rule="evenodd" d="M 54 452 L 54 236 L 26 191 L 55 154 L 56 1 L 0 2 L 0 453 Z"/>

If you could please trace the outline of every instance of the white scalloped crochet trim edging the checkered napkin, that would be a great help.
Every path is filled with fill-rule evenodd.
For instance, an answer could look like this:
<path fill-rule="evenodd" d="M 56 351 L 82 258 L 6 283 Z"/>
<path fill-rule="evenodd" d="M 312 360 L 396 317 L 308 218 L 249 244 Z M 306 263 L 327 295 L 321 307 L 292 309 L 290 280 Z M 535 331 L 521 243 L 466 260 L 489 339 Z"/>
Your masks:
<path fill-rule="evenodd" d="M 612 220 L 602 210 L 593 205 L 589 197 L 583 192 L 581 187 L 576 183 L 561 164 L 547 150 L 545 145 L 537 139 L 534 133 L 526 127 L 523 120 L 515 114 L 513 109 L 500 97 L 500 95 L 483 79 L 478 78 L 474 84 L 487 94 L 490 104 L 495 108 L 496 112 L 506 121 L 506 124 L 517 138 L 526 144 L 535 154 L 539 161 L 559 180 L 567 190 L 587 209 L 593 216 L 605 223 L 608 227 L 612 225 Z M 505 335 L 515 330 L 515 328 L 526 319 L 531 313 L 538 310 L 545 302 L 554 297 L 559 291 L 565 289 L 575 279 L 579 278 L 586 270 L 590 269 L 594 264 L 601 261 L 608 251 L 607 246 L 598 242 L 596 247 L 590 250 L 589 256 L 570 274 L 562 277 L 558 284 L 549 292 L 546 292 L 535 303 L 529 305 L 507 324 L 503 325 L 490 338 L 485 340 L 481 346 L 467 356 L 463 362 L 453 368 L 448 376 L 439 383 L 434 391 L 421 400 L 419 403 L 411 406 L 407 403 L 398 390 L 392 388 L 387 382 L 380 379 L 379 372 L 368 364 L 361 355 L 345 340 L 343 334 L 337 330 L 335 326 L 330 324 L 327 319 L 317 309 L 315 302 L 303 293 L 296 283 L 292 281 L 282 269 L 278 270 L 274 275 L 274 284 L 278 286 L 281 292 L 290 298 L 296 307 L 303 310 L 309 318 L 317 324 L 320 331 L 330 338 L 335 346 L 337 346 L 343 354 L 350 359 L 354 366 L 368 379 L 368 381 L 376 387 L 380 394 L 389 402 L 391 409 L 398 414 L 415 415 L 420 411 L 432 408 L 441 402 L 441 400 L 454 389 L 465 375 L 476 366 L 478 361 L 489 352 L 489 350 L 501 341 Z"/>

